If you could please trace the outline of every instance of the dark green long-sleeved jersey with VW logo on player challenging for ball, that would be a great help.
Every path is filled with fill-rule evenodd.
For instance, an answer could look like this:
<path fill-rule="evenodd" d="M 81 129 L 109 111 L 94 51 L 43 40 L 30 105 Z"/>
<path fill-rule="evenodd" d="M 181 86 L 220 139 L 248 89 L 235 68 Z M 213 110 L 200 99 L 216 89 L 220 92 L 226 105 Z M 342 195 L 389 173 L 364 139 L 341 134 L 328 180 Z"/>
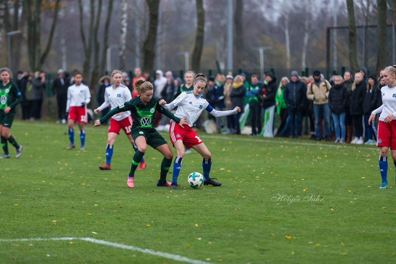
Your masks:
<path fill-rule="evenodd" d="M 103 124 L 106 120 L 117 113 L 131 111 L 133 119 L 132 127 L 155 128 L 154 117 L 155 112 L 158 111 L 165 116 L 168 116 L 170 119 L 175 120 L 176 123 L 179 123 L 180 118 L 177 118 L 171 112 L 160 106 L 159 101 L 160 100 L 158 98 L 152 97 L 147 104 L 143 104 L 142 101 L 140 101 L 140 96 L 138 96 L 112 109 L 99 121 Z"/>

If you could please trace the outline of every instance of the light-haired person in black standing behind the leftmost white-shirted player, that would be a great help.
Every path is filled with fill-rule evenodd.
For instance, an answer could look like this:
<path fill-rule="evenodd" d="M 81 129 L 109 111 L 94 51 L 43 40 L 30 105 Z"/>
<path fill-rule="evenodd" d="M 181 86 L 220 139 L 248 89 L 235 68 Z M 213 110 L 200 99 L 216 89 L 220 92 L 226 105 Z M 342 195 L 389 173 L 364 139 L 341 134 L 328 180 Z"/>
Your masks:
<path fill-rule="evenodd" d="M 58 78 L 53 80 L 52 82 L 52 93 L 56 98 L 58 103 L 58 122 L 57 123 L 66 123 L 66 103 L 67 103 L 67 88 L 69 88 L 70 81 L 66 80 L 65 72 L 62 69 L 59 69 Z"/>

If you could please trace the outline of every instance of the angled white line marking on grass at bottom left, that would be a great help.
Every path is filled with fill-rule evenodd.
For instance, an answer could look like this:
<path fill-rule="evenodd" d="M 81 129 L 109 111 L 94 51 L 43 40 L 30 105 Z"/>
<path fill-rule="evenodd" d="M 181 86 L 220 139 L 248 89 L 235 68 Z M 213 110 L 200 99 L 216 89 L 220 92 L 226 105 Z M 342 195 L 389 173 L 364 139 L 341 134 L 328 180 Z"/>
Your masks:
<path fill-rule="evenodd" d="M 160 256 L 164 258 L 170 258 L 173 260 L 177 261 L 183 261 L 187 263 L 192 263 L 192 264 L 210 264 L 209 262 L 204 262 L 201 260 L 194 260 L 190 258 L 186 258 L 184 256 L 180 255 L 173 255 L 169 253 L 164 253 L 160 251 L 152 251 L 151 249 L 141 249 L 140 247 L 133 247 L 133 246 L 127 246 L 127 245 L 122 245 L 118 243 L 112 243 L 104 240 L 99 240 L 99 239 L 94 239 L 91 237 L 54 237 L 54 238 L 22 238 L 22 239 L 0 239 L 0 242 L 17 242 L 17 241 L 48 241 L 48 240 L 83 240 L 83 241 L 88 241 L 96 244 L 101 244 L 101 245 L 106 245 L 106 246 L 111 246 L 111 247 L 118 247 L 120 249 L 128 249 L 131 251 L 139 251 L 141 253 L 146 253 L 150 255 L 155 255 L 155 256 Z"/>

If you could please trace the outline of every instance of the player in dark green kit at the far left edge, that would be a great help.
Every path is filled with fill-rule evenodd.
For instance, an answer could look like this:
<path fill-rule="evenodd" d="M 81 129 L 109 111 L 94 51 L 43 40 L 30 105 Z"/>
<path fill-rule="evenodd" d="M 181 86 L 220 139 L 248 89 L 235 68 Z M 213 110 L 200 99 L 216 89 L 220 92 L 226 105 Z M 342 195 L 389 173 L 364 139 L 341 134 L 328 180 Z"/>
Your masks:
<path fill-rule="evenodd" d="M 14 137 L 10 134 L 10 129 L 15 116 L 15 106 L 22 102 L 22 95 L 15 82 L 12 82 L 11 72 L 8 68 L 0 69 L 0 135 L 1 146 L 4 155 L 0 159 L 9 159 L 7 141 L 9 141 L 16 149 L 15 158 L 21 156 L 23 146 L 18 145 Z"/>

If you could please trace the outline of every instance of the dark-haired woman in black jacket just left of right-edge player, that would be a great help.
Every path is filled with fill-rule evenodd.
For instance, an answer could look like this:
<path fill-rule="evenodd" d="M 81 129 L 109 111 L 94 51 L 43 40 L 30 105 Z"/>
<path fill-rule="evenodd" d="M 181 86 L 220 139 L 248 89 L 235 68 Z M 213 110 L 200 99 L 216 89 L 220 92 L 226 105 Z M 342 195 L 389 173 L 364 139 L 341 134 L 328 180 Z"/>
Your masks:
<path fill-rule="evenodd" d="M 372 122 L 369 125 L 368 121 L 371 115 L 371 112 L 377 109 L 377 98 L 378 98 L 378 81 L 375 78 L 374 74 L 369 75 L 367 78 L 367 89 L 366 89 L 366 96 L 364 97 L 363 101 L 363 113 L 364 113 L 364 126 L 366 128 L 366 136 L 364 144 L 377 144 L 377 129 L 375 128 L 375 122 Z M 380 91 L 381 93 L 381 91 Z M 374 140 L 373 140 L 374 136 Z"/>

